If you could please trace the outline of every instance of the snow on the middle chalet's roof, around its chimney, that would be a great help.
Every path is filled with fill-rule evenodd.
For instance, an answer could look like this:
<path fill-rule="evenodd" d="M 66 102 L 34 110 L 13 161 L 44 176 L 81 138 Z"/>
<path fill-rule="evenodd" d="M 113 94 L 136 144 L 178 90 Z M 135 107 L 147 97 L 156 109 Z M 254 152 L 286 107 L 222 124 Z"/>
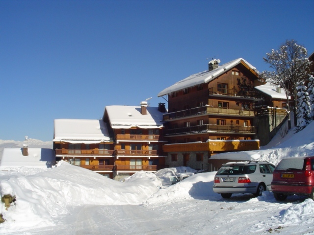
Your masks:
<path fill-rule="evenodd" d="M 147 107 L 147 115 L 141 114 L 140 106 L 106 106 L 110 125 L 113 129 L 157 129 L 163 127 L 162 114 L 157 107 Z"/>

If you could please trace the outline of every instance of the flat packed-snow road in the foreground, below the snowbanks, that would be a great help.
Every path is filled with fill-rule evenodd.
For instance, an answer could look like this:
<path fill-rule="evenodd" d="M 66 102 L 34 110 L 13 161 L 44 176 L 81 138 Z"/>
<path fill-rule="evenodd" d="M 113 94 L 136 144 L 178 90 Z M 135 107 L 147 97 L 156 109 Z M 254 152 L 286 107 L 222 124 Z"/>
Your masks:
<path fill-rule="evenodd" d="M 249 235 L 280 232 L 288 235 L 295 226 L 302 226 L 301 234 L 314 234 L 313 217 L 311 221 L 289 226 L 282 226 L 278 219 L 288 207 L 304 199 L 295 196 L 287 202 L 277 203 L 268 193 L 265 198 L 236 194 L 229 200 L 217 201 L 189 199 L 153 205 L 85 205 L 72 208 L 69 214 L 55 218 L 56 226 L 28 230 L 23 234 Z M 9 234 L 20 235 L 21 232 Z"/>

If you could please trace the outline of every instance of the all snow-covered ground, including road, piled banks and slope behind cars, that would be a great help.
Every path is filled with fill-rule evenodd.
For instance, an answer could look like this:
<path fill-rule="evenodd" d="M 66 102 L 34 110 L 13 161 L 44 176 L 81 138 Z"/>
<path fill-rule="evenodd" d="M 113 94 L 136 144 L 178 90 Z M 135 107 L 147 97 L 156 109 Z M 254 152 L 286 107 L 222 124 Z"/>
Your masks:
<path fill-rule="evenodd" d="M 281 158 L 314 155 L 314 122 L 297 134 L 275 136 L 258 151 L 277 164 Z M 252 154 L 252 153 L 250 153 Z M 252 154 L 253 155 L 253 154 Z M 271 192 L 255 198 L 234 194 L 223 199 L 212 190 L 215 172 L 198 173 L 165 186 L 169 168 L 138 172 L 125 182 L 60 162 L 52 169 L 21 167 L 0 172 L 1 195 L 14 194 L 0 234 L 7 235 L 314 235 L 314 201 L 290 196 L 277 202 Z"/>

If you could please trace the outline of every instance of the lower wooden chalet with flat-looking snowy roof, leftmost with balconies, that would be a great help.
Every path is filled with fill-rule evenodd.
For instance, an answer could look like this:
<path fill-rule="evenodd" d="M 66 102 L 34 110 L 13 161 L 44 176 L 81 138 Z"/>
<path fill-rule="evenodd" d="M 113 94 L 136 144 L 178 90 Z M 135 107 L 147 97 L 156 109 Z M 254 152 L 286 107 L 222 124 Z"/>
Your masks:
<path fill-rule="evenodd" d="M 64 160 L 113 178 L 114 143 L 102 120 L 55 119 L 53 149 L 56 161 Z"/>

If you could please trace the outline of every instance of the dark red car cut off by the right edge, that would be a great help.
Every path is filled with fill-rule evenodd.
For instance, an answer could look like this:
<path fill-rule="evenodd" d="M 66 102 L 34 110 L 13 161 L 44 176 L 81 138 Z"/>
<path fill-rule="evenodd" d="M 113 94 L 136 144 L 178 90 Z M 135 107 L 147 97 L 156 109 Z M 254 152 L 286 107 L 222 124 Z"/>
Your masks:
<path fill-rule="evenodd" d="M 271 188 L 279 201 L 293 194 L 314 200 L 314 156 L 282 159 L 274 170 Z"/>

